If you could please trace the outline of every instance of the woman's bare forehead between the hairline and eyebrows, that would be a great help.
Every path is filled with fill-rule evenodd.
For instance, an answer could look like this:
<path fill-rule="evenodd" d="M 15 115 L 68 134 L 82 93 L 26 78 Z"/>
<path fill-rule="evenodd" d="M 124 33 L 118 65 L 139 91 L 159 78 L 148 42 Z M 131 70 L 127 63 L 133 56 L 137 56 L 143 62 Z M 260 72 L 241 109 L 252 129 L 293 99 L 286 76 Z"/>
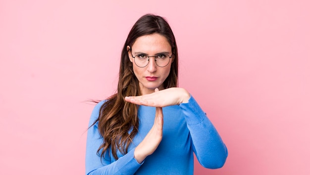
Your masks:
<path fill-rule="evenodd" d="M 143 53 L 171 52 L 171 46 L 166 37 L 154 33 L 137 38 L 132 50 Z"/>

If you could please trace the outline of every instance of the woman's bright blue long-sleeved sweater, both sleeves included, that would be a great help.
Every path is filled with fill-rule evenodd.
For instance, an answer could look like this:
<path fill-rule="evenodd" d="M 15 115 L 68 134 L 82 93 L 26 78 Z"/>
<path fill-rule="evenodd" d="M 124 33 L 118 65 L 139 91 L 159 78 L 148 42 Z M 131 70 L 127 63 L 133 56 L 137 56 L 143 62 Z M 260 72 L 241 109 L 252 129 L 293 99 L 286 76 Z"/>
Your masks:
<path fill-rule="evenodd" d="M 96 105 L 90 125 L 98 118 L 103 103 Z M 101 160 L 97 150 L 103 138 L 98 131 L 98 122 L 90 127 L 87 133 L 86 175 L 193 175 L 193 152 L 206 168 L 216 169 L 224 165 L 227 148 L 192 96 L 188 103 L 164 107 L 162 112 L 162 141 L 142 164 L 134 158 L 134 151 L 154 124 L 155 107 L 139 107 L 139 132 L 127 154 L 118 152 L 118 160 L 110 156 L 111 152 L 105 153 Z"/>

